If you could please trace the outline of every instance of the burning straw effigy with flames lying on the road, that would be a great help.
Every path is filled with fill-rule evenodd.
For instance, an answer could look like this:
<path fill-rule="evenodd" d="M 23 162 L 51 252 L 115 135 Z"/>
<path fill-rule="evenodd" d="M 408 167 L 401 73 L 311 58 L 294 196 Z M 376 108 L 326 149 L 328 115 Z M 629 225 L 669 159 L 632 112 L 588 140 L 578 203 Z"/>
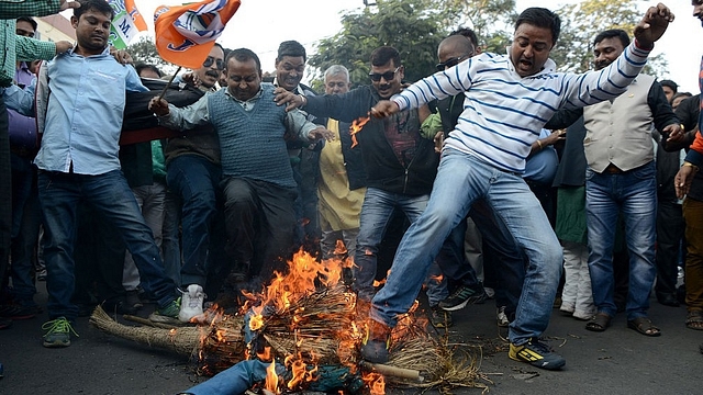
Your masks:
<path fill-rule="evenodd" d="M 356 294 L 342 281 L 343 269 L 350 264 L 319 261 L 299 251 L 287 273 L 275 273 L 260 293 L 245 293 L 247 302 L 238 313 L 224 314 L 214 305 L 191 326 L 124 325 L 100 307 L 90 321 L 107 334 L 187 356 L 197 362 L 200 375 L 215 375 L 213 381 L 237 371 L 237 377 L 248 379 L 237 384 L 230 377 L 227 385 L 244 385 L 254 393 L 383 394 L 386 385 L 445 392 L 487 387 L 490 381 L 478 372 L 480 352 L 449 346 L 433 334 L 426 316 L 417 312 L 419 303 L 399 317 L 388 363 L 362 361 L 368 305 L 357 304 Z"/>

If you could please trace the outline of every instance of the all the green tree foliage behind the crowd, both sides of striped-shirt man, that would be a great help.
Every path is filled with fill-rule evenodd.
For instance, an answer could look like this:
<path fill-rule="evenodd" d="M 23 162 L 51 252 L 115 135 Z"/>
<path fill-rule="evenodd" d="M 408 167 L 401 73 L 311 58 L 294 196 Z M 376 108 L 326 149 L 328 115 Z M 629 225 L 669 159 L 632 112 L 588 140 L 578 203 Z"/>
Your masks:
<path fill-rule="evenodd" d="M 391 45 L 401 53 L 410 82 L 435 71 L 438 43 L 459 26 L 479 36 L 484 52 L 505 53 L 517 18 L 514 0 L 379 0 L 376 7 L 342 16 L 342 30 L 317 43 L 310 57 L 313 88 L 322 87 L 322 72 L 345 65 L 354 84 L 368 83 L 368 58 L 376 47 Z M 601 31 L 633 32 L 641 16 L 634 0 L 583 0 L 555 10 L 561 18 L 561 36 L 551 52 L 560 71 L 585 71 L 593 63 L 592 41 Z M 650 57 L 645 72 L 661 76 L 662 55 Z"/>

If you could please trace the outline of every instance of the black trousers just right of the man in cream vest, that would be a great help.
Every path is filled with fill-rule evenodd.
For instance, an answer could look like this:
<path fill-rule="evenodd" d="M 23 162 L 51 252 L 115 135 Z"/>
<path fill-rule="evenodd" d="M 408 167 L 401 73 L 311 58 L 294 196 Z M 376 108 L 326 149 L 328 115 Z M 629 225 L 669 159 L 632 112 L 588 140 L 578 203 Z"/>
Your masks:
<path fill-rule="evenodd" d="M 685 230 L 681 204 L 660 200 L 657 205 L 657 297 L 673 295 L 677 291 L 679 255 Z"/>

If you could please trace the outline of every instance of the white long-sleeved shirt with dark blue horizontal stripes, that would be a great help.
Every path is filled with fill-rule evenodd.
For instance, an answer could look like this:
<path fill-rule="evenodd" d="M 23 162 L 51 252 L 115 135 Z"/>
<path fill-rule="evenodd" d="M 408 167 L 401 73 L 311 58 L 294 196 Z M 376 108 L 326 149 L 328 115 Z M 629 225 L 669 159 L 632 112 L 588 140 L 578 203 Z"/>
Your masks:
<path fill-rule="evenodd" d="M 609 67 L 584 74 L 544 69 L 521 77 L 507 55 L 483 53 L 424 78 L 392 98 L 401 111 L 465 92 L 464 112 L 445 147 L 471 154 L 505 171 L 523 173 L 532 144 L 561 106 L 580 108 L 624 92 L 649 50 L 631 44 Z"/>

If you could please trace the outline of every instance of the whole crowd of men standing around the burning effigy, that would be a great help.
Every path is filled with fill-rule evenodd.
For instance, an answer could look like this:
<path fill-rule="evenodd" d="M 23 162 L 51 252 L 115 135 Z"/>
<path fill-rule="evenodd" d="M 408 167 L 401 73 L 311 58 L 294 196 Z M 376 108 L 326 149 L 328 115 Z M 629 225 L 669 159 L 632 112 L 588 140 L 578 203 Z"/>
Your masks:
<path fill-rule="evenodd" d="M 68 8 L 76 43 L 31 38 L 27 15 Z M 369 84 L 350 89 L 334 65 L 316 94 L 301 83 L 305 48 L 286 41 L 272 80 L 257 54 L 215 44 L 160 95 L 158 68 L 111 52 L 103 0 L 0 9 L 2 328 L 42 313 L 38 261 L 43 345 L 60 348 L 97 304 L 134 314 L 153 301 L 149 319 L 171 324 L 205 301 L 236 307 L 304 248 L 353 258 L 346 281 L 369 317 L 360 351 L 371 362 L 388 359 L 397 317 L 423 286 L 437 327 L 494 297 L 510 358 L 542 369 L 566 364 L 539 340 L 559 294 L 588 330 L 625 312 L 629 328 L 659 336 L 650 291 L 679 305 L 681 257 L 685 325 L 703 330 L 700 99 L 640 72 L 673 21 L 663 4 L 632 41 L 601 32 L 594 70 L 579 75 L 549 59 L 559 16 L 531 8 L 506 55 L 460 29 L 439 44 L 437 72 L 412 84 L 398 49 L 381 46 Z M 121 146 L 135 103 L 174 132 Z M 389 234 L 403 236 L 379 289 Z"/>

